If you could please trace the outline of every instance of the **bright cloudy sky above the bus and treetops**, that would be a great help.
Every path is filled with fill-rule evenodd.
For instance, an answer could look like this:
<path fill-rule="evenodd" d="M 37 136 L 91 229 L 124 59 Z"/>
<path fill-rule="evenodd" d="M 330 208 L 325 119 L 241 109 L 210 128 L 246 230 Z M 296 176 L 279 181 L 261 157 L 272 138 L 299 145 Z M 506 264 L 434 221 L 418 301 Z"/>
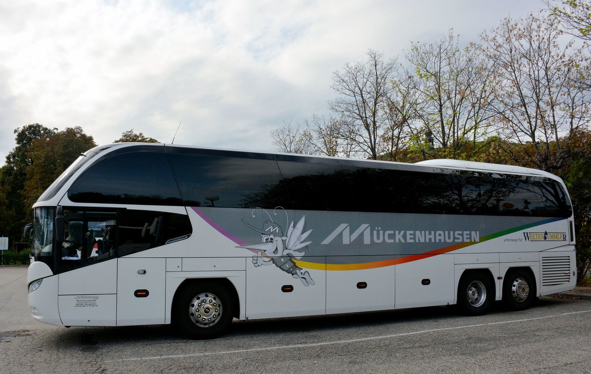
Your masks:
<path fill-rule="evenodd" d="M 369 48 L 461 43 L 541 0 L 0 0 L 0 164 L 15 128 L 135 129 L 274 151 L 269 130 L 327 113 L 332 73 Z"/>

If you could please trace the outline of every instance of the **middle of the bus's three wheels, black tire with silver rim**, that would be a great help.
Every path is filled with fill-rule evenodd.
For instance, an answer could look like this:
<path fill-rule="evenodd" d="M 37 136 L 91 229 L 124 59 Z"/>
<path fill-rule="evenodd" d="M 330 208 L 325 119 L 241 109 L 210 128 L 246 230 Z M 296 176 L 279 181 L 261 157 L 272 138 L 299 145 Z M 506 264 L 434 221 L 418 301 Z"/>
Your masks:
<path fill-rule="evenodd" d="M 485 314 L 495 300 L 495 288 L 490 277 L 482 272 L 466 272 L 457 286 L 457 306 L 466 316 Z"/>

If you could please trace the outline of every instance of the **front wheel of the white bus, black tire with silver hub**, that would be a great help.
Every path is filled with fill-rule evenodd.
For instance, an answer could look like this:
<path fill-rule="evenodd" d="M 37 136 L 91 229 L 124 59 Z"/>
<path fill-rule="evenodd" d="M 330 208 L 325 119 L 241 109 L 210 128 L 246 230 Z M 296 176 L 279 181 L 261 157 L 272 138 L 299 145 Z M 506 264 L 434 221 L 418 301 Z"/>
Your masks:
<path fill-rule="evenodd" d="M 182 334 L 191 339 L 213 339 L 228 331 L 234 305 L 226 287 L 215 282 L 199 282 L 179 292 L 173 316 Z"/>

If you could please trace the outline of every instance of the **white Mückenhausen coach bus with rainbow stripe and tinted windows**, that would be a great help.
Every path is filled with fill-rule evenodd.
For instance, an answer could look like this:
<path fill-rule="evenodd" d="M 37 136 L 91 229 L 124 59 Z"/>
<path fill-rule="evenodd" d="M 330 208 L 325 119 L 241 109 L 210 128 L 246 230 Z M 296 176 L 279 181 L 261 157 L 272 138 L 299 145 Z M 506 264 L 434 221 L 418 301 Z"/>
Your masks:
<path fill-rule="evenodd" d="M 57 326 L 210 338 L 233 318 L 523 309 L 576 282 L 563 181 L 506 165 L 112 144 L 33 213 L 28 304 Z"/>

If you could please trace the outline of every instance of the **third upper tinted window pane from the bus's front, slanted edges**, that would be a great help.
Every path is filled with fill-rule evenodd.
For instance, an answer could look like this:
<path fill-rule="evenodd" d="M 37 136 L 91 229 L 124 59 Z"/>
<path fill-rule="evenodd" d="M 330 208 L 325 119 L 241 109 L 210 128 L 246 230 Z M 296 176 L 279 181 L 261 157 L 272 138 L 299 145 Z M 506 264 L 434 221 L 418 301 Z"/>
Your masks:
<path fill-rule="evenodd" d="M 357 210 L 338 164 L 277 161 L 294 209 Z"/>

